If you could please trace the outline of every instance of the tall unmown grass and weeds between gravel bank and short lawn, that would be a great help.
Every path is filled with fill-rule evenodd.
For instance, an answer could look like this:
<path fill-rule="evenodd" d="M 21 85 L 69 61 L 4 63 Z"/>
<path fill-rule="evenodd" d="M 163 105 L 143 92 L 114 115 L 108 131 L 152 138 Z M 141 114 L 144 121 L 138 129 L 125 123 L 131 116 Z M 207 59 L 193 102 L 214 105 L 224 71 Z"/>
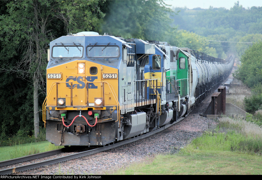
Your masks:
<path fill-rule="evenodd" d="M 194 139 L 182 153 L 192 153 L 192 150 L 203 151 L 237 151 L 242 153 L 262 154 L 262 130 L 256 125 L 252 115 L 244 118 L 223 117 L 219 119 L 216 128 L 205 131 Z M 196 148 L 198 147 L 198 148 Z"/>

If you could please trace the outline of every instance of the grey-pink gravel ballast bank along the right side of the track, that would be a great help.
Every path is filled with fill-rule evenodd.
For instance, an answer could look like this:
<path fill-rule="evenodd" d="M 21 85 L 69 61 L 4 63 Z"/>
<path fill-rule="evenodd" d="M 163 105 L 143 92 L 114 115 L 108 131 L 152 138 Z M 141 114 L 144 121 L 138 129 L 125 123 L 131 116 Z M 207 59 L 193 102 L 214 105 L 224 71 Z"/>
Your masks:
<path fill-rule="evenodd" d="M 211 95 L 181 122 L 150 137 L 94 155 L 16 174 L 104 174 L 106 171 L 114 171 L 132 162 L 146 161 L 148 157 L 153 158 L 155 154 L 177 153 L 192 139 L 216 124 L 214 120 L 199 115 L 206 110 L 210 101 Z"/>

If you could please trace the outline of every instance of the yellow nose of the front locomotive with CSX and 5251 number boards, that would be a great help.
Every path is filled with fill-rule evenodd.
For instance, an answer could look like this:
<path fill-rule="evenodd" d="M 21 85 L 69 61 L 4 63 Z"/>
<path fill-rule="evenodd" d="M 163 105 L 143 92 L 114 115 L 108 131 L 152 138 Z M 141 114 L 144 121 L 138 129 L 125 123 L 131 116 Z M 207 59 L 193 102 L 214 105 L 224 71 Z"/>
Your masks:
<path fill-rule="evenodd" d="M 117 105 L 118 69 L 82 60 L 61 64 L 47 69 L 47 89 L 47 106 L 63 110 Z"/>

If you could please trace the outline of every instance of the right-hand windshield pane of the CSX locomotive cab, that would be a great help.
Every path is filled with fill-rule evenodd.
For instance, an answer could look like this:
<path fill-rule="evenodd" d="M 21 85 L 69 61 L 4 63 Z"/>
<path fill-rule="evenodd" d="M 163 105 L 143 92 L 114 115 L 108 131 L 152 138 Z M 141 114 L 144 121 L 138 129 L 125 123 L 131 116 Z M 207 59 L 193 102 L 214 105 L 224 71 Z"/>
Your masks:
<path fill-rule="evenodd" d="M 99 57 L 99 58 L 119 57 L 118 46 L 88 46 L 86 52 L 88 57 Z"/>

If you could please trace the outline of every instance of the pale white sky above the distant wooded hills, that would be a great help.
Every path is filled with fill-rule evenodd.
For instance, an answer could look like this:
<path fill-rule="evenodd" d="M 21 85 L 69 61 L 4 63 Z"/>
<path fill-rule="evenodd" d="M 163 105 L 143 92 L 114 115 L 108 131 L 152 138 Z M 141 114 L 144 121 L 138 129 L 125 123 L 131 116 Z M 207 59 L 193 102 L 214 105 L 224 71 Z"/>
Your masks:
<path fill-rule="evenodd" d="M 187 7 L 188 9 L 193 9 L 200 7 L 203 9 L 208 9 L 210 6 L 214 8 L 224 7 L 230 9 L 234 6 L 237 0 L 164 0 L 166 4 L 172 5 L 174 7 Z M 244 8 L 252 6 L 262 6 L 262 0 L 238 0 L 239 5 Z"/>

